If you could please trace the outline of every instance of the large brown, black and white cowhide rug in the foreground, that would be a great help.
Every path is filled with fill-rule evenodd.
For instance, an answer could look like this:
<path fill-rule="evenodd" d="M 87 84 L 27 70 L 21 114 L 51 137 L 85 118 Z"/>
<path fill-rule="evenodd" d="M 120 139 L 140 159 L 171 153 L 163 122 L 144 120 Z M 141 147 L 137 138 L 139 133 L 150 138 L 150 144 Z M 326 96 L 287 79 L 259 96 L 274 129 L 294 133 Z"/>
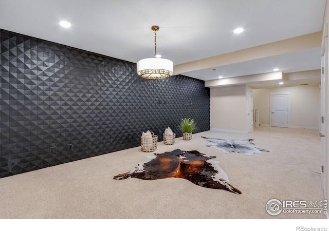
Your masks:
<path fill-rule="evenodd" d="M 182 151 L 176 149 L 165 153 L 154 153 L 147 160 L 139 163 L 134 169 L 119 174 L 113 179 L 139 178 L 156 180 L 163 178 L 183 178 L 192 183 L 215 189 L 224 189 L 235 194 L 241 194 L 239 189 L 229 184 L 228 177 L 218 161 L 211 160 L 198 151 Z"/>

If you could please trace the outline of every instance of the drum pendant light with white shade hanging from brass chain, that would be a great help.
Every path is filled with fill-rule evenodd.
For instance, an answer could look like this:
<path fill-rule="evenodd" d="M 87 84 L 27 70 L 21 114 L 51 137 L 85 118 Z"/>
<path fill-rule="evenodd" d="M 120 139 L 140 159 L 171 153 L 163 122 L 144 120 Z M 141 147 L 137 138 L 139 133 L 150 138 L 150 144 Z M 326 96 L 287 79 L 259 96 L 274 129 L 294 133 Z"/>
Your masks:
<path fill-rule="evenodd" d="M 173 74 L 173 62 L 156 57 L 156 32 L 158 26 L 152 26 L 154 31 L 154 57 L 143 59 L 137 63 L 137 74 L 144 79 L 167 79 Z"/>

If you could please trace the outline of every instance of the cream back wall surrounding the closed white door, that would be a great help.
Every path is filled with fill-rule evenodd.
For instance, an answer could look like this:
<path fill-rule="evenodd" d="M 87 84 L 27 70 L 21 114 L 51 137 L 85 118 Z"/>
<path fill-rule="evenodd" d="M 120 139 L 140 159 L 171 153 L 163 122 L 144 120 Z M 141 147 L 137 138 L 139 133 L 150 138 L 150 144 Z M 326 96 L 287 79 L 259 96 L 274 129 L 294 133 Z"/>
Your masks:
<path fill-rule="evenodd" d="M 274 89 L 254 89 L 253 108 L 260 109 L 261 126 L 270 124 L 270 93 L 290 93 L 291 128 L 319 128 L 320 92 L 319 86 L 280 87 Z"/>

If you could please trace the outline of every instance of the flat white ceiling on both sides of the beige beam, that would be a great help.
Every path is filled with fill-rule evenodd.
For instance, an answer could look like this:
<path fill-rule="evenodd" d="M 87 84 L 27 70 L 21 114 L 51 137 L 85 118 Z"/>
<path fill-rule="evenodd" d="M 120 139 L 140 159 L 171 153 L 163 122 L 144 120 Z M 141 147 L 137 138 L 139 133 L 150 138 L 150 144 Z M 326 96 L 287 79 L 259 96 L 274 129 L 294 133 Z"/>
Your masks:
<path fill-rule="evenodd" d="M 157 53 L 179 65 L 321 31 L 324 8 L 325 0 L 1 0 L 0 28 L 137 63 L 154 55 L 158 25 Z M 315 48 L 182 74 L 212 80 L 320 64 Z"/>

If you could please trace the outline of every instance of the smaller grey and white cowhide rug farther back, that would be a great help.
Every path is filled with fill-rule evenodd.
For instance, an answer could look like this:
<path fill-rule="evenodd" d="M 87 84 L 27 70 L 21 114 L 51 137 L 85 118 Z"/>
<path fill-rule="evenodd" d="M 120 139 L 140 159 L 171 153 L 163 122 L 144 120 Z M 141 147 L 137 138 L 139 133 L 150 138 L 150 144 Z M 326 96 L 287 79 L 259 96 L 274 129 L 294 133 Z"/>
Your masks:
<path fill-rule="evenodd" d="M 242 153 L 246 156 L 250 156 L 253 153 L 261 153 L 262 151 L 268 151 L 258 148 L 252 139 L 249 140 L 223 140 L 214 139 L 208 137 L 202 137 L 208 140 L 209 145 L 207 147 L 213 147 L 221 150 L 225 153 Z"/>

